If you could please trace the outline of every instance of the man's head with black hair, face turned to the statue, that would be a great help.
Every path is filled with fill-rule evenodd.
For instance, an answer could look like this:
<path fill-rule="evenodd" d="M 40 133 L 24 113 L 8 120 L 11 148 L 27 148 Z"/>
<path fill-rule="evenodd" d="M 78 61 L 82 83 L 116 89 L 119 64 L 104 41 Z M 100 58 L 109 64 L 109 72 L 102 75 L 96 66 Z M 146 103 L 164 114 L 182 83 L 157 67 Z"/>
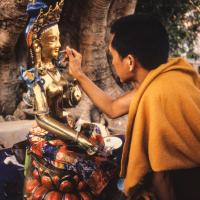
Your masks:
<path fill-rule="evenodd" d="M 168 34 L 152 16 L 122 17 L 112 24 L 111 35 L 109 50 L 122 81 L 131 79 L 137 66 L 150 71 L 168 60 Z"/>

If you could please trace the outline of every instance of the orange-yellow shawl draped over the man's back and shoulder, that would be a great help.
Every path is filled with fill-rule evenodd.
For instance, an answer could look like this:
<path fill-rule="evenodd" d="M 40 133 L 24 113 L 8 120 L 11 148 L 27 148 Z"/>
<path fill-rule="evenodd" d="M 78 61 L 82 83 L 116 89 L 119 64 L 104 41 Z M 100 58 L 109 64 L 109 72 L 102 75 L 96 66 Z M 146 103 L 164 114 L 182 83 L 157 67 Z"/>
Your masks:
<path fill-rule="evenodd" d="M 149 171 L 200 166 L 200 77 L 181 58 L 149 72 L 129 108 L 124 192 Z"/>

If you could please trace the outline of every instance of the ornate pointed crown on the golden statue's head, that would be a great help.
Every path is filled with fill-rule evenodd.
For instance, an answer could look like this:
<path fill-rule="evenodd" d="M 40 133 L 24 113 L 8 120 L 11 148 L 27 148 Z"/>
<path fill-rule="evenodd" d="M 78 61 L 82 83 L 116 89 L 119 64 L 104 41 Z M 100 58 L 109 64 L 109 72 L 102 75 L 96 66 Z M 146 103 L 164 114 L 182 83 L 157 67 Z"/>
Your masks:
<path fill-rule="evenodd" d="M 40 9 L 40 12 L 37 18 L 34 20 L 32 27 L 26 38 L 28 46 L 31 46 L 34 40 L 39 39 L 41 33 L 45 29 L 59 22 L 63 5 L 64 5 L 64 0 L 60 0 L 59 2 L 56 3 L 54 8 L 50 6 L 47 12 L 45 12 L 43 9 Z"/>

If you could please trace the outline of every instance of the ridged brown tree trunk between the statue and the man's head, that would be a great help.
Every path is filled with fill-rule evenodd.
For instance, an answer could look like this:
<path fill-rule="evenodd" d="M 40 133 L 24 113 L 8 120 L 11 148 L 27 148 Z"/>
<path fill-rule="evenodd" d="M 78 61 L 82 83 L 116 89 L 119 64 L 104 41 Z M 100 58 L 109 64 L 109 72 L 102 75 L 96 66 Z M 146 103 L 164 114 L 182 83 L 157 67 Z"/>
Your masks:
<path fill-rule="evenodd" d="M 108 61 L 107 51 L 111 23 L 117 18 L 133 14 L 136 0 L 88 0 L 81 17 L 80 51 L 83 70 L 99 87 L 113 97 L 123 93 L 116 83 L 116 74 Z M 87 102 L 87 103 L 86 103 Z M 87 105 L 87 106 L 86 106 Z M 89 118 L 92 103 L 87 97 L 79 105 L 81 114 Z M 124 129 L 126 117 L 110 120 L 109 126 Z"/>

